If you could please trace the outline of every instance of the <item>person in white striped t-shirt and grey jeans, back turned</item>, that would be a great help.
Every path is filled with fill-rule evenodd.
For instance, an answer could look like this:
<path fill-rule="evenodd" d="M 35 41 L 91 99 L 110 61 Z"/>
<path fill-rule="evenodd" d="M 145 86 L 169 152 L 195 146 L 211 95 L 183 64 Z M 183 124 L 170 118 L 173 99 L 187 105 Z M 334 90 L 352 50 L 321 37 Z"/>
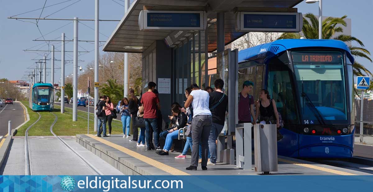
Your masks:
<path fill-rule="evenodd" d="M 209 109 L 209 93 L 200 90 L 197 84 L 192 84 L 192 92 L 185 102 L 185 108 L 193 105 L 193 120 L 192 120 L 192 140 L 193 149 L 197 149 L 200 142 L 202 143 L 202 170 L 207 170 L 207 154 L 209 153 L 208 140 L 211 130 L 211 111 Z M 192 150 L 191 165 L 186 167 L 186 170 L 197 170 L 198 151 Z"/>

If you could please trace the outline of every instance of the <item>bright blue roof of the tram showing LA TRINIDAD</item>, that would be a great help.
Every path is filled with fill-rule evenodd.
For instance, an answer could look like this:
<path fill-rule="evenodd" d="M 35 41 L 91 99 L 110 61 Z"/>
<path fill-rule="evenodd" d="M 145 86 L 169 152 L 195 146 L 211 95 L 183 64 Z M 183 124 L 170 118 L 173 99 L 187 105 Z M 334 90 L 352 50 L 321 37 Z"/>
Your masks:
<path fill-rule="evenodd" d="M 354 63 L 354 58 L 352 57 L 347 44 L 340 40 L 330 39 L 280 39 L 239 51 L 238 62 L 241 63 L 265 57 L 271 58 L 285 50 L 302 47 L 330 47 L 343 49 L 347 51 L 347 56 L 351 63 Z"/>

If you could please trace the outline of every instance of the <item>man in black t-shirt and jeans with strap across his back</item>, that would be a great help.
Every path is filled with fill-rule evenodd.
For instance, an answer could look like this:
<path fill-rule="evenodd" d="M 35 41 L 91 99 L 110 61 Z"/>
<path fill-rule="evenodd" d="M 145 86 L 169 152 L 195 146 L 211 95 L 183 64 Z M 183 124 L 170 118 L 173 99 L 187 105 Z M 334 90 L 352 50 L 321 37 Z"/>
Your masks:
<path fill-rule="evenodd" d="M 222 132 L 225 122 L 225 112 L 228 106 L 228 97 L 223 93 L 224 81 L 217 79 L 214 82 L 215 91 L 209 93 L 209 108 L 212 115 L 212 124 L 209 135 L 210 161 L 207 165 L 216 165 L 216 139 Z"/>

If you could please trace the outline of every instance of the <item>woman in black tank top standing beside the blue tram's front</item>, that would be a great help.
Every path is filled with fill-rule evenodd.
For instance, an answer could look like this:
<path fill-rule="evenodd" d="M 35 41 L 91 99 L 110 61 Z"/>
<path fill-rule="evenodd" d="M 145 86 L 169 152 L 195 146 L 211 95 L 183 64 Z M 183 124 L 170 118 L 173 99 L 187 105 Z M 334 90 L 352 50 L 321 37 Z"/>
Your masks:
<path fill-rule="evenodd" d="M 259 99 L 260 101 L 256 104 L 255 119 L 258 119 L 258 115 L 260 114 L 259 122 L 261 124 L 276 124 L 276 127 L 279 128 L 279 115 L 276 102 L 271 99 L 266 89 L 260 91 Z"/>

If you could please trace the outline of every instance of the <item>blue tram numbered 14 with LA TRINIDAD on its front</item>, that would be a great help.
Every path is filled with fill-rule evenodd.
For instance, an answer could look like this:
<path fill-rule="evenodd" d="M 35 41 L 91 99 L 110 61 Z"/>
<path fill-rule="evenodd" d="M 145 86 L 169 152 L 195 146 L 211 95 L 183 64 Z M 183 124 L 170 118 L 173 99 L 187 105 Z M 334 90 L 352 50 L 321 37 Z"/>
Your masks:
<path fill-rule="evenodd" d="M 238 61 L 238 86 L 253 81 L 255 100 L 267 89 L 276 101 L 284 121 L 279 155 L 352 158 L 354 58 L 344 42 L 276 40 L 241 50 Z"/>

